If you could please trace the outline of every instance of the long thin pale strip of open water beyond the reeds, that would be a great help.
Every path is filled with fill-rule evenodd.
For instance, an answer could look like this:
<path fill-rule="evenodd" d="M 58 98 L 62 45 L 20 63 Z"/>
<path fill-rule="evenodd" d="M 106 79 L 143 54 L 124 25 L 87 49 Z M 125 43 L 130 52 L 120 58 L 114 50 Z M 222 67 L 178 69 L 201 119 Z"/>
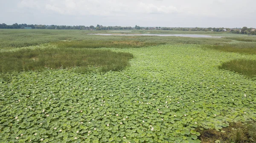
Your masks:
<path fill-rule="evenodd" d="M 88 35 L 102 35 L 102 36 L 175 36 L 175 37 L 196 37 L 196 38 L 210 38 L 214 36 L 197 35 L 197 34 L 88 34 Z M 214 37 L 221 38 L 221 37 Z"/>

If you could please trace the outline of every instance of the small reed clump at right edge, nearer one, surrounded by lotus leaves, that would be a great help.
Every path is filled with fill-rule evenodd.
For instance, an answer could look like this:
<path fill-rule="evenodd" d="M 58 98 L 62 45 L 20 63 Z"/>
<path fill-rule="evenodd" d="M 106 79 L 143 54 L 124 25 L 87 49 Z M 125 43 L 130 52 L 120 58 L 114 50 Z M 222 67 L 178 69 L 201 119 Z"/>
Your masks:
<path fill-rule="evenodd" d="M 230 60 L 228 62 L 222 63 L 221 66 L 219 66 L 219 68 L 227 69 L 232 72 L 238 72 L 248 77 L 256 76 L 256 60 Z"/>

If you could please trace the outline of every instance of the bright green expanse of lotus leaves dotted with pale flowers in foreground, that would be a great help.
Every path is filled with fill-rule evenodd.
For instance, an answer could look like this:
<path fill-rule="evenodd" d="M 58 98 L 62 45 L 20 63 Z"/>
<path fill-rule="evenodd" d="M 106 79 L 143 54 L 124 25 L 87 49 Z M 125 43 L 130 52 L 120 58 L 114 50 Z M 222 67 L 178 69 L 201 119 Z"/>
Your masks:
<path fill-rule="evenodd" d="M 218 69 L 255 55 L 192 44 L 110 49 L 132 53 L 131 66 L 0 78 L 0 143 L 200 143 L 199 129 L 256 120 L 256 81 Z"/>

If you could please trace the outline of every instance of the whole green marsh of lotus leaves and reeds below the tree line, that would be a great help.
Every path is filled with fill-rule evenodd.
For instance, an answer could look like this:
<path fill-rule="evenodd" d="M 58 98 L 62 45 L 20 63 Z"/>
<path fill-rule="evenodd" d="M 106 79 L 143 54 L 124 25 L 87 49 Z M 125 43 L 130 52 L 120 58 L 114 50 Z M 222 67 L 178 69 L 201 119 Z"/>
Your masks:
<path fill-rule="evenodd" d="M 256 140 L 256 70 L 236 71 L 245 65 L 239 62 L 227 64 L 235 70 L 221 67 L 241 60 L 253 61 L 244 70 L 255 69 L 256 42 L 240 40 L 255 36 L 87 35 L 93 32 L 0 30 L 0 143 Z M 185 34 L 203 34 L 191 32 Z M 95 63 L 84 60 L 89 56 Z M 37 59 L 44 59 L 38 69 Z M 70 64 L 56 65 L 63 61 Z M 34 69 L 26 69 L 29 64 Z M 243 137 L 234 123 L 243 123 Z M 229 138 L 206 138 L 207 131 Z"/>

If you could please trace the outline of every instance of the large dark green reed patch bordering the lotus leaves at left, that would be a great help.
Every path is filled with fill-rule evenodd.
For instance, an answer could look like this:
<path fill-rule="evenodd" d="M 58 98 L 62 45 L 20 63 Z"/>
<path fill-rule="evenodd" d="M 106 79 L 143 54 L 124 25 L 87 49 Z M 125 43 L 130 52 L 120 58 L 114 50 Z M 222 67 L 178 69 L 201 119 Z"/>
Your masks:
<path fill-rule="evenodd" d="M 98 68 L 99 72 L 119 71 L 130 65 L 128 61 L 132 57 L 130 53 L 105 49 L 22 49 L 0 52 L 0 72 L 71 67 L 84 69 L 88 66 Z"/>

